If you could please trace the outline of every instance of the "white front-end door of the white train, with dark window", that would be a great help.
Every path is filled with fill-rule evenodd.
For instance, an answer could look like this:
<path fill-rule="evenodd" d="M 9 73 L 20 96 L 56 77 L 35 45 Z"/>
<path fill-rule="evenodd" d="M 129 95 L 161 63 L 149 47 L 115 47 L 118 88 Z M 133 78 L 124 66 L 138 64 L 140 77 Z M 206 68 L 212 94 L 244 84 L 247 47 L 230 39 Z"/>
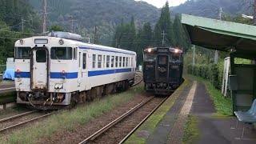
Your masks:
<path fill-rule="evenodd" d="M 49 81 L 49 51 L 47 48 L 33 48 L 32 58 L 30 62 L 31 70 L 31 89 L 32 90 L 48 90 Z"/>

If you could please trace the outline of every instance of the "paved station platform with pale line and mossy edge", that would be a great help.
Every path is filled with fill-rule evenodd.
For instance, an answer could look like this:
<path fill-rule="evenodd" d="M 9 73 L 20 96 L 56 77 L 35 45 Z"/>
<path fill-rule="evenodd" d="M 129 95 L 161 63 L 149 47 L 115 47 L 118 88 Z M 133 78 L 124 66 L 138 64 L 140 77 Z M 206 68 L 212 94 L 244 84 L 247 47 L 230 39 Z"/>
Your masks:
<path fill-rule="evenodd" d="M 182 138 L 188 117 L 196 121 L 192 124 L 193 130 L 189 130 L 194 137 L 184 142 Z M 216 113 L 204 83 L 186 78 L 182 86 L 125 143 L 256 143 L 254 126 L 246 126 L 242 138 L 244 123 L 238 122 L 235 128 L 236 122 L 234 116 Z"/>

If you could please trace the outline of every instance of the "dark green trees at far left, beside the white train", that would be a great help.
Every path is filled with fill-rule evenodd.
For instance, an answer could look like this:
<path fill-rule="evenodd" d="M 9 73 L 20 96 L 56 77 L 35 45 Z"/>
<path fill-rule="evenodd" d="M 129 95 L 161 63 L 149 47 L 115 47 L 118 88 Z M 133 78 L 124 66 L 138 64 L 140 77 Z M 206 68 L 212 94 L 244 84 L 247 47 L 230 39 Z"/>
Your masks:
<path fill-rule="evenodd" d="M 38 33 L 39 23 L 28 0 L 0 0 L 0 64 L 14 57 L 15 41 Z"/>

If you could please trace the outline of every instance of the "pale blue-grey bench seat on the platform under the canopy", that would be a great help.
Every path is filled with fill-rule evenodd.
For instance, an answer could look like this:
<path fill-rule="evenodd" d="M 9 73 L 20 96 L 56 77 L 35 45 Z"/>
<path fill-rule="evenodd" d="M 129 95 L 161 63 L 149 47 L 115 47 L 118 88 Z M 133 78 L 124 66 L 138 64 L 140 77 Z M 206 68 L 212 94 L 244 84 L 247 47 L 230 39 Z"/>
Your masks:
<path fill-rule="evenodd" d="M 237 125 L 238 126 L 238 121 L 239 122 L 244 122 L 244 126 L 242 128 L 242 136 L 241 139 L 243 138 L 243 134 L 245 131 L 245 125 L 248 124 L 253 124 L 256 123 L 256 98 L 254 99 L 253 104 L 250 106 L 250 110 L 248 111 L 234 111 L 234 114 L 237 116 Z"/>

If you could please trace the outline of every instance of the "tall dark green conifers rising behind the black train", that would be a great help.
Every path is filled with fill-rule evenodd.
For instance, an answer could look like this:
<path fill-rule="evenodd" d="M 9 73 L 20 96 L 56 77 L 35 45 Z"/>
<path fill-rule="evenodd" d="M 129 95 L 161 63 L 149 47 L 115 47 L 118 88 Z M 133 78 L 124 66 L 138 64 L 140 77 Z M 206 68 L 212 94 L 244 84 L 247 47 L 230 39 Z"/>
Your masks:
<path fill-rule="evenodd" d="M 162 32 L 165 34 L 164 39 Z M 179 16 L 176 15 L 174 23 L 170 20 L 168 2 L 163 6 L 154 30 L 152 30 L 150 22 L 146 22 L 141 28 L 138 28 L 136 33 L 134 18 L 131 18 L 128 24 L 125 24 L 122 19 L 115 31 L 112 46 L 135 51 L 138 55 L 137 63 L 141 65 L 142 51 L 150 46 L 162 47 L 162 40 L 164 40 L 164 46 L 168 47 L 178 46 L 179 49 L 186 50 L 189 46 Z"/>

